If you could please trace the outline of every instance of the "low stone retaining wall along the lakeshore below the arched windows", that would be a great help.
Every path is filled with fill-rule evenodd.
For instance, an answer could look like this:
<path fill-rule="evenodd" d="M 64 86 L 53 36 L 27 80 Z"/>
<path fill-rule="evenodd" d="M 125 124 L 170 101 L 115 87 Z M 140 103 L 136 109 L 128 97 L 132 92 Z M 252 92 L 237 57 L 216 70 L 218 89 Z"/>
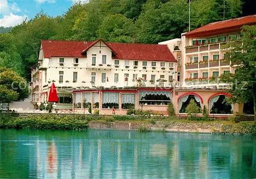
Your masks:
<path fill-rule="evenodd" d="M 215 122 L 173 122 L 173 121 L 115 121 L 102 122 L 90 121 L 89 129 L 102 130 L 139 130 L 144 127 L 148 130 L 172 131 L 172 132 L 193 132 L 193 133 L 250 133 L 250 125 L 222 124 Z"/>

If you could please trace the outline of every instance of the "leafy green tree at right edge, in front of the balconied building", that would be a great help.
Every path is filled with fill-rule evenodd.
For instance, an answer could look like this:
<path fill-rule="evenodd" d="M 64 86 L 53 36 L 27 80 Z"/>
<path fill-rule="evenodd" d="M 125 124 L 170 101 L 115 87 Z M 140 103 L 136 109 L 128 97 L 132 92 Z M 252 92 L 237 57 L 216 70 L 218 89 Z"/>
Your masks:
<path fill-rule="evenodd" d="M 242 43 L 230 41 L 224 48 L 229 48 L 226 57 L 231 66 L 239 64 L 234 73 L 221 75 L 221 81 L 231 85 L 229 93 L 232 103 L 245 103 L 253 99 L 254 121 L 256 122 L 256 25 L 244 26 Z"/>

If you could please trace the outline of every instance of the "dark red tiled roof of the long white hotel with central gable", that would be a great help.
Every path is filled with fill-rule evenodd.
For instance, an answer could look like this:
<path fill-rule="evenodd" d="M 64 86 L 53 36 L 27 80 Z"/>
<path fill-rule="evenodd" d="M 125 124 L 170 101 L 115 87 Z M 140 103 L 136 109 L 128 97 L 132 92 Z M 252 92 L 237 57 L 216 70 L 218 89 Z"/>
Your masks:
<path fill-rule="evenodd" d="M 87 51 L 96 41 L 41 40 L 45 58 L 86 57 Z M 104 42 L 115 54 L 114 59 L 177 62 L 167 45 Z"/>

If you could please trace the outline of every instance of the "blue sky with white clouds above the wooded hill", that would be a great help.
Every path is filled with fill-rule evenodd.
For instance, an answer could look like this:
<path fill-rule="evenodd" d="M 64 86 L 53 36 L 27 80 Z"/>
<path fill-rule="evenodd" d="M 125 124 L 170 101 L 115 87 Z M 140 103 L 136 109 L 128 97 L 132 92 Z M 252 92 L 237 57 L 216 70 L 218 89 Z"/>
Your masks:
<path fill-rule="evenodd" d="M 79 0 L 0 0 L 0 27 L 13 27 L 41 10 L 53 17 L 62 15 L 75 1 Z"/>

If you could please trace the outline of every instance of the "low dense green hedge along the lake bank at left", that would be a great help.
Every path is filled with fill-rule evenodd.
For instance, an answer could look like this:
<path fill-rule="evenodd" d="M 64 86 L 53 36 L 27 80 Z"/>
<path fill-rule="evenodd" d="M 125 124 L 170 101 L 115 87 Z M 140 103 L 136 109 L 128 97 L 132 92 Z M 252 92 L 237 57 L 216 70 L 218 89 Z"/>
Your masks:
<path fill-rule="evenodd" d="M 87 130 L 88 121 L 76 117 L 34 116 L 10 117 L 0 116 L 0 128 L 38 129 L 38 130 Z"/>

